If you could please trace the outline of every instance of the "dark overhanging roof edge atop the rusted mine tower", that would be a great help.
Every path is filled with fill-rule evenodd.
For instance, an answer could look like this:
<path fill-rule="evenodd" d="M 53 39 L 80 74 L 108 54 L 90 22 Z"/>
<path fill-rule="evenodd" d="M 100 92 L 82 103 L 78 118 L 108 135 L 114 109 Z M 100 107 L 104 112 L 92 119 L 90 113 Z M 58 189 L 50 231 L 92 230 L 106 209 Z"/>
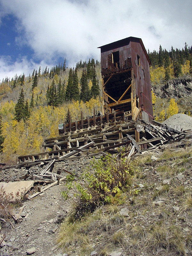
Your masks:
<path fill-rule="evenodd" d="M 130 37 L 127 37 L 127 38 L 124 38 L 124 39 L 121 39 L 121 40 L 118 40 L 116 42 L 113 42 L 113 43 L 110 43 L 110 44 L 105 44 L 105 45 L 102 45 L 98 48 L 101 49 L 101 51 L 103 50 L 104 52 L 107 51 L 108 49 L 113 49 L 113 48 L 117 48 L 117 47 L 122 47 L 123 45 L 126 45 L 126 44 L 129 44 L 130 41 L 135 41 L 135 40 L 138 40 L 141 44 L 141 47 L 147 57 L 147 60 L 149 62 L 149 65 L 151 65 L 151 61 L 149 59 L 149 56 L 147 54 L 147 51 L 145 49 L 145 46 L 143 44 L 143 41 L 141 38 L 138 38 L 138 37 L 133 37 L 133 36 L 130 36 Z"/>

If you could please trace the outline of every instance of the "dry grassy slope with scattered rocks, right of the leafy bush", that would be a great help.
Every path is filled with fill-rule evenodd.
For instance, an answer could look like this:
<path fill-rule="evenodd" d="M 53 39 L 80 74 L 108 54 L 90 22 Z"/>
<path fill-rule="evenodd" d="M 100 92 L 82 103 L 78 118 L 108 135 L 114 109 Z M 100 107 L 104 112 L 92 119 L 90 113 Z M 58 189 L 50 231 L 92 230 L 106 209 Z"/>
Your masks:
<path fill-rule="evenodd" d="M 125 255 L 141 252 L 147 256 L 159 255 L 159 251 L 167 256 L 187 255 L 187 250 L 192 251 L 192 230 L 187 224 L 192 218 L 192 191 L 173 177 L 185 171 L 184 177 L 190 179 L 188 170 L 191 169 L 182 169 L 178 165 L 171 167 L 171 164 L 182 160 L 190 164 L 186 160 L 188 156 L 191 156 L 191 150 L 186 149 L 166 151 L 159 157 L 162 160 L 156 162 L 151 162 L 151 156 L 134 159 L 130 164 L 135 173 L 132 188 L 123 195 L 122 201 L 123 207 L 128 208 L 129 217 L 120 214 L 122 207 L 119 207 L 117 200 L 116 204 L 105 205 L 80 222 L 72 224 L 65 221 L 58 240 L 60 246 L 74 255 L 90 255 L 93 251 L 90 244 L 95 245 L 98 255 L 105 256 L 119 248 Z M 144 169 L 147 169 L 143 173 L 145 176 L 142 175 Z M 162 185 L 166 178 L 172 178 L 170 184 Z M 140 183 L 144 185 L 141 189 L 138 188 Z M 133 192 L 137 189 L 140 191 L 136 196 Z M 158 197 L 165 198 L 164 204 L 153 204 Z M 174 211 L 173 206 L 179 206 L 179 211 Z M 189 228 L 188 233 L 183 231 L 186 227 Z"/>

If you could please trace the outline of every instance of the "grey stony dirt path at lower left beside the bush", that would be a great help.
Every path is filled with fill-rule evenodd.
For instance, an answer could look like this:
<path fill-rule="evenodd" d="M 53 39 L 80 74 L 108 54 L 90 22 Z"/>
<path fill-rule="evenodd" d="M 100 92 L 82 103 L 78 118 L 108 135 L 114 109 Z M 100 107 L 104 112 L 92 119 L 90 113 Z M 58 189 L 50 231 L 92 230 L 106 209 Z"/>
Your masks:
<path fill-rule="evenodd" d="M 36 248 L 32 255 L 62 255 L 60 251 L 52 249 L 56 245 L 61 219 L 69 211 L 68 204 L 60 195 L 63 188 L 64 183 L 53 186 L 24 203 L 26 206 L 23 211 L 29 215 L 26 220 L 15 225 L 15 230 L 12 228 L 6 233 L 5 246 L 0 255 L 27 255 L 27 250 L 32 247 Z"/>

